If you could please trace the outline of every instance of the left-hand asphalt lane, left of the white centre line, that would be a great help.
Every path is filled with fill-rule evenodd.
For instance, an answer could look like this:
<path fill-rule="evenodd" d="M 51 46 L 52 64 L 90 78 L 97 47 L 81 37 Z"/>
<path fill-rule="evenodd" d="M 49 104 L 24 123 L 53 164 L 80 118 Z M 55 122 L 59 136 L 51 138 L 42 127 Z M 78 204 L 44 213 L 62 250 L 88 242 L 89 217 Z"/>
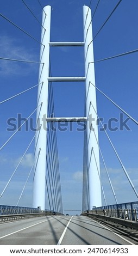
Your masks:
<path fill-rule="evenodd" d="M 70 217 L 38 217 L 0 225 L 0 245 L 57 245 Z M 5 236 L 5 237 L 3 237 Z"/>

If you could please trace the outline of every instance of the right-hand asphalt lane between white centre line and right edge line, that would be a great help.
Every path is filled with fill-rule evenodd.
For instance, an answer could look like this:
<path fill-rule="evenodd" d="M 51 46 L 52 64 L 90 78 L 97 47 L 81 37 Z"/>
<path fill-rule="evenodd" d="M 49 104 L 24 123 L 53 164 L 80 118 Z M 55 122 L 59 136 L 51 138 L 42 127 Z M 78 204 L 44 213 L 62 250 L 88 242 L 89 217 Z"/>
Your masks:
<path fill-rule="evenodd" d="M 133 242 L 88 217 L 74 216 L 61 245 L 133 245 Z"/>

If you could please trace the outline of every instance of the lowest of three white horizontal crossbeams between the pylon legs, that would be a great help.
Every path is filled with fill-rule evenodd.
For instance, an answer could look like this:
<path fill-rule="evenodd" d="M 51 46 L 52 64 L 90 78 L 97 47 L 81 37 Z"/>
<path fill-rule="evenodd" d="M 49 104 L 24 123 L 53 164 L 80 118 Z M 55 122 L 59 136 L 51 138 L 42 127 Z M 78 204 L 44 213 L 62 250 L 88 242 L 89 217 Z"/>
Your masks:
<path fill-rule="evenodd" d="M 47 122 L 78 122 L 78 121 L 87 121 L 87 117 L 48 117 L 46 118 Z"/>

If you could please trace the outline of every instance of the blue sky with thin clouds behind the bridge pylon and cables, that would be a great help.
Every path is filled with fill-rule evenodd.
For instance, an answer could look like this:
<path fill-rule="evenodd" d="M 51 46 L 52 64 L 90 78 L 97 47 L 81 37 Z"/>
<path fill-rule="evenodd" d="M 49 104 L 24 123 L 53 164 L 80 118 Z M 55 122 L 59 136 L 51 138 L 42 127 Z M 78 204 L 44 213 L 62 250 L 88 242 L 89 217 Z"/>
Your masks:
<path fill-rule="evenodd" d="M 26 0 L 30 9 L 41 22 L 42 9 L 37 0 Z M 89 6 L 90 0 L 52 0 L 40 1 L 42 6 L 51 5 L 51 41 L 83 41 L 83 5 Z M 97 0 L 91 3 L 92 12 L 96 8 Z M 103 25 L 106 18 L 114 9 L 118 1 L 101 0 L 93 18 L 93 35 Z M 137 0 L 123 0 L 102 31 L 93 41 L 95 60 L 114 56 L 137 48 Z M 1 11 L 9 20 L 16 23 L 26 32 L 40 41 L 41 26 L 28 11 L 22 1 L 5 0 L 1 3 Z M 40 45 L 35 40 L 23 34 L 8 21 L 0 17 L 0 57 L 28 59 L 39 62 Z M 137 53 L 107 60 L 95 64 L 96 85 L 111 97 L 118 105 L 137 119 Z M 84 76 L 84 52 L 81 48 L 52 48 L 51 66 L 53 76 Z M 1 94 L 0 101 L 22 92 L 37 84 L 38 64 L 24 64 L 0 60 Z M 55 116 L 75 117 L 84 115 L 84 83 L 53 83 Z M 17 113 L 27 118 L 36 108 L 37 88 L 26 94 L 0 105 L 0 145 L 10 137 L 7 132 L 7 119 L 17 118 Z M 98 115 L 107 123 L 110 118 L 120 118 L 120 110 L 97 92 Z M 35 114 L 34 124 L 35 124 Z M 123 115 L 123 119 L 126 117 Z M 131 131 L 120 131 L 119 122 L 112 123 L 117 131 L 107 130 L 115 148 L 136 189 L 137 182 L 137 127 L 132 121 L 127 123 Z M 21 159 L 34 133 L 32 131 L 18 132 L 16 136 L 1 150 L 0 172 L 1 191 L 10 178 L 11 173 Z M 83 170 L 83 132 L 58 132 L 58 150 L 61 176 L 61 189 L 64 210 L 81 209 L 82 198 L 82 170 Z M 103 131 L 99 131 L 99 143 L 105 158 L 106 166 L 114 186 L 118 202 L 137 200 L 134 192 L 123 174 L 114 152 Z M 29 148 L 25 161 L 12 179 L 7 191 L 0 199 L 0 204 L 17 203 L 27 174 L 33 163 L 34 144 Z M 32 174 L 33 176 L 33 174 Z M 26 191 L 21 198 L 20 205 L 32 204 L 32 176 L 30 176 Z M 115 203 L 111 195 L 109 182 L 101 160 L 101 176 L 103 188 L 108 204 Z M 110 192 L 109 192 L 110 191 Z M 104 202 L 103 202 L 104 204 Z M 66 213 L 66 212 L 65 212 Z M 72 212 L 73 214 L 78 212 Z"/>

